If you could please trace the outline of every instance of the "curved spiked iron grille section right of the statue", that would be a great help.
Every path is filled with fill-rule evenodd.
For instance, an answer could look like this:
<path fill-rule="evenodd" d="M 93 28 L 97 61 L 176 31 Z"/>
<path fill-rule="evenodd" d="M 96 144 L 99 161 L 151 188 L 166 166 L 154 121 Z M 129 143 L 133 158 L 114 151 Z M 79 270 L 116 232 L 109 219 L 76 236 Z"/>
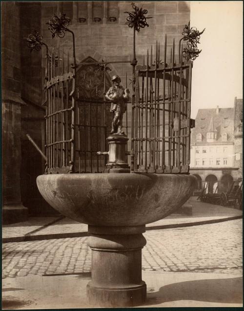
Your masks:
<path fill-rule="evenodd" d="M 148 173 L 187 173 L 189 171 L 191 70 L 192 61 L 175 60 L 175 45 L 166 62 L 156 45 L 146 64 L 136 67 L 136 100 L 132 106 L 131 169 Z"/>

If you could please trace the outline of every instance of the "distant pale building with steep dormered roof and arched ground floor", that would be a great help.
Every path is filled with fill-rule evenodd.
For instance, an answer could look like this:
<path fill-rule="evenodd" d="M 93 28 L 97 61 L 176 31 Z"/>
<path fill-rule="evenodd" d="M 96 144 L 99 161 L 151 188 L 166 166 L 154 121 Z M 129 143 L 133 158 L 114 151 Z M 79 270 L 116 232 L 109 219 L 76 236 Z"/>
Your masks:
<path fill-rule="evenodd" d="M 191 135 L 190 173 L 198 178 L 197 190 L 209 182 L 209 192 L 226 192 L 242 179 L 243 99 L 234 108 L 199 109 Z"/>

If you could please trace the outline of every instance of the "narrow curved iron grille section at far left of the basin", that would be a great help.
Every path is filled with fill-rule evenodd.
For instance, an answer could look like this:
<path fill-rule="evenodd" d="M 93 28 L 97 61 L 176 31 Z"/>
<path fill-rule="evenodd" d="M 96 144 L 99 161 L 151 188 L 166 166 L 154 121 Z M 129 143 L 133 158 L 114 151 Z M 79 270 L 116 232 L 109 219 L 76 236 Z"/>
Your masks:
<path fill-rule="evenodd" d="M 75 68 L 69 54 L 53 49 L 46 62 L 47 172 L 72 171 L 75 131 Z"/>

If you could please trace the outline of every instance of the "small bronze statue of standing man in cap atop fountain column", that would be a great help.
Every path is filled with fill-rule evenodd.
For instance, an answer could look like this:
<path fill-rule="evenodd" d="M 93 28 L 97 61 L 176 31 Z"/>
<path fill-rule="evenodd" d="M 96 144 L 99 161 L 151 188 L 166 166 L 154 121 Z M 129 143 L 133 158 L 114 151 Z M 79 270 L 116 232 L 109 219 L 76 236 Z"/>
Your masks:
<path fill-rule="evenodd" d="M 130 100 L 129 89 L 124 89 L 121 83 L 121 78 L 118 75 L 112 77 L 113 86 L 107 91 L 105 97 L 111 103 L 110 112 L 114 113 L 114 119 L 112 122 L 112 130 L 110 134 L 124 134 L 122 132 L 123 114 L 126 111 L 125 103 Z"/>

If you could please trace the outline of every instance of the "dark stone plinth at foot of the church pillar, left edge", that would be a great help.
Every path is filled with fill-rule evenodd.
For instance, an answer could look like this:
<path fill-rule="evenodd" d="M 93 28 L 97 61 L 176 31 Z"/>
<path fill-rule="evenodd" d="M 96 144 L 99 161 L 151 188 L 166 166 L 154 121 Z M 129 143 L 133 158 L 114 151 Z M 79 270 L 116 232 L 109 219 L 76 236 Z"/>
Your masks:
<path fill-rule="evenodd" d="M 21 203 L 3 204 L 2 206 L 2 224 L 22 222 L 28 219 L 28 209 Z"/>

